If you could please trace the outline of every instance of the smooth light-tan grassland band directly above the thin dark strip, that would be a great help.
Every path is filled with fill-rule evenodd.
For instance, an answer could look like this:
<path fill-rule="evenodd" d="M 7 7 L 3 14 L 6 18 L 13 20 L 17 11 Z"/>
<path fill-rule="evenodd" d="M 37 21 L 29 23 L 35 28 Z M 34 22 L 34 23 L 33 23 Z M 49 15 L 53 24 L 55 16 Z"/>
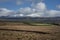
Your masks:
<path fill-rule="evenodd" d="M 1 26 L 0 29 L 52 32 L 54 30 L 57 30 L 57 26 L 28 26 L 28 25 L 19 25 L 18 26 L 18 25 L 14 25 L 14 26 Z"/>

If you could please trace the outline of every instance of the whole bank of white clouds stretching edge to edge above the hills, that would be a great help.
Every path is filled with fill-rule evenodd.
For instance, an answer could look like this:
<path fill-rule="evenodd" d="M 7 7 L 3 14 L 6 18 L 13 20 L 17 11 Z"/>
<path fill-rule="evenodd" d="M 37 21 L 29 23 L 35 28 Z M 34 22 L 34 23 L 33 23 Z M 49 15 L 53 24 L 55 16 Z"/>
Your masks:
<path fill-rule="evenodd" d="M 60 16 L 60 11 L 58 10 L 48 10 L 46 4 L 39 2 L 34 4 L 32 7 L 20 8 L 17 12 L 8 10 L 5 8 L 0 8 L 0 16 L 31 16 L 31 17 L 55 17 Z"/>

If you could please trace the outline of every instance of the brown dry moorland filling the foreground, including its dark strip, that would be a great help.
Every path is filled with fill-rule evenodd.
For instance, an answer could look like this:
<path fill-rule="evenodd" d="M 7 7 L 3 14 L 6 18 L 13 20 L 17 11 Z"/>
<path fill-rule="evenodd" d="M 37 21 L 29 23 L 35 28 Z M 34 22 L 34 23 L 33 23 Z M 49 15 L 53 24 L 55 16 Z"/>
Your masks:
<path fill-rule="evenodd" d="M 0 40 L 60 40 L 60 27 L 0 22 Z"/>

